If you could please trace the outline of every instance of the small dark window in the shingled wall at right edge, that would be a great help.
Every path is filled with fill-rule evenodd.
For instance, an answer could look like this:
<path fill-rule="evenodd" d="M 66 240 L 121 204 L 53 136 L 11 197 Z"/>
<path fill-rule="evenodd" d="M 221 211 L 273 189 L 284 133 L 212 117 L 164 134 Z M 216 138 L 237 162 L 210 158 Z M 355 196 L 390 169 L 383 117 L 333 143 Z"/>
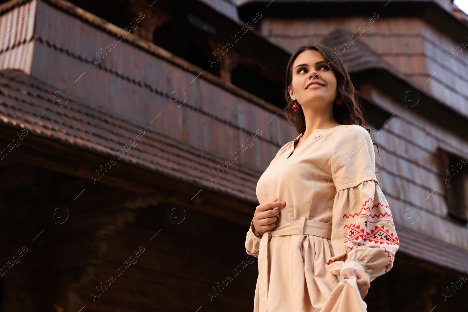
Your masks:
<path fill-rule="evenodd" d="M 448 216 L 466 225 L 468 223 L 468 161 L 449 152 L 441 151 L 441 154 Z"/>

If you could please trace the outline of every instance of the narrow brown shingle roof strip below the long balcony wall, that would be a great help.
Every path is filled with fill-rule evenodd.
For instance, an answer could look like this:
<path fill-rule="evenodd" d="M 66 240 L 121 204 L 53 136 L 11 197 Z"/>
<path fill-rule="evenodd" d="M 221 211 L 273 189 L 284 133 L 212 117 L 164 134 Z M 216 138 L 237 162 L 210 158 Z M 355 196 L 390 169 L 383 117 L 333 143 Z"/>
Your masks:
<path fill-rule="evenodd" d="M 114 158 L 142 129 L 79 99 L 70 98 L 64 105 L 66 94 L 56 93 L 57 90 L 21 71 L 1 71 L 1 125 L 26 128 L 34 135 Z M 153 122 L 157 123 L 158 119 Z M 215 177 L 213 170 L 225 163 L 225 158 L 154 130 L 143 131 L 145 134 L 138 145 L 130 148 L 119 161 L 257 203 L 254 175 L 258 177 L 261 172 L 235 163 L 222 178 L 211 183 L 209 177 Z"/>

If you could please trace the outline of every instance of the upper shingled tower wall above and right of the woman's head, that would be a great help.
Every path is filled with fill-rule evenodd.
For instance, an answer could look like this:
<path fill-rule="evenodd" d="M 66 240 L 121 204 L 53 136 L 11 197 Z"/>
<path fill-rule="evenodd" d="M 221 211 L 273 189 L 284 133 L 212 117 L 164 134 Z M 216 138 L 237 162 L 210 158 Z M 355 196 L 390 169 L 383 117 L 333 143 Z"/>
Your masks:
<path fill-rule="evenodd" d="M 333 20 L 265 18 L 260 26 L 264 36 L 291 52 L 304 44 L 309 37 L 327 35 L 337 25 L 348 29 L 351 34 L 358 32 L 358 36 L 355 35 L 358 39 L 350 38 L 350 44 L 353 40 L 368 44 L 420 88 L 460 114 L 468 116 L 468 47 L 456 49 L 462 41 L 468 44 L 468 39 L 461 37 L 459 41 L 455 41 L 419 18 L 380 16 L 384 12 L 385 9 L 377 10 L 375 16 L 379 17 L 366 25 L 364 22 L 368 22 L 373 15 L 333 16 Z M 453 51 L 453 60 L 450 61 L 447 53 Z M 456 51 L 461 52 L 457 54 Z M 445 64 L 449 61 L 450 63 Z"/>

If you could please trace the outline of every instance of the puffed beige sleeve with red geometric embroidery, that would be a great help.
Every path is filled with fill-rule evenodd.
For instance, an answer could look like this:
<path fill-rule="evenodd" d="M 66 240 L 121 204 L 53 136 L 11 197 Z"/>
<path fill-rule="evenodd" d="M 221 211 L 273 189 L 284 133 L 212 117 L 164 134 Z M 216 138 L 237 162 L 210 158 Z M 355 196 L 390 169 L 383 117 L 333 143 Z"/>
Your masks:
<path fill-rule="evenodd" d="M 356 268 L 373 281 L 393 267 L 399 244 L 375 175 L 374 145 L 366 129 L 349 125 L 335 131 L 331 165 L 336 187 L 331 234 L 335 256 L 326 268 L 337 276 L 344 268 Z"/>

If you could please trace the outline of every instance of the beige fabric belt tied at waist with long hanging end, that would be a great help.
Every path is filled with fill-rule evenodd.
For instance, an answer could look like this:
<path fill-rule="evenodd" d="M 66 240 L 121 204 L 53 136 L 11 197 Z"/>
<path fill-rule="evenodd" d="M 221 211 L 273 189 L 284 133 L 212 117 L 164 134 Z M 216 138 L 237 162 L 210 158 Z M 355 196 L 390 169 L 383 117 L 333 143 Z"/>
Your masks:
<path fill-rule="evenodd" d="M 306 220 L 306 217 L 300 218 L 297 223 L 286 223 L 278 227 L 277 230 L 271 231 L 271 236 L 286 236 L 286 235 L 313 235 L 326 239 L 331 239 L 331 225 L 320 221 Z M 259 307 L 260 312 L 271 312 L 267 307 L 268 300 L 268 246 L 270 245 L 269 233 L 264 232 L 260 240 L 260 248 L 258 253 L 258 272 L 259 272 Z M 301 252 L 298 247 L 299 253 Z M 270 310 L 270 311 L 269 311 Z"/>

